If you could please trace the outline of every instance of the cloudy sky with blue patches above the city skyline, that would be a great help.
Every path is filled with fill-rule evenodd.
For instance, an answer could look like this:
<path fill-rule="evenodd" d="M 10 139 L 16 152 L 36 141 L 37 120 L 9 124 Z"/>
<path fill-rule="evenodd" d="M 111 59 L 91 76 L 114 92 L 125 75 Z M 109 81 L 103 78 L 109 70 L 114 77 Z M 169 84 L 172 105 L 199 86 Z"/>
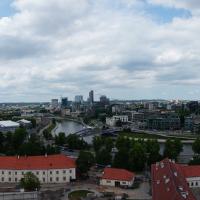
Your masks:
<path fill-rule="evenodd" d="M 200 99 L 199 0 L 0 0 L 0 102 Z"/>

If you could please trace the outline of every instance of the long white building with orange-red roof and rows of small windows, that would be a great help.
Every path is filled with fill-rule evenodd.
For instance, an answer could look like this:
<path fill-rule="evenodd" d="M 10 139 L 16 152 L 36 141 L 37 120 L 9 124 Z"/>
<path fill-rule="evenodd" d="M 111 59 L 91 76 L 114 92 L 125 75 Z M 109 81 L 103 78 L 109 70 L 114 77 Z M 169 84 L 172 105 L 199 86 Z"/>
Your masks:
<path fill-rule="evenodd" d="M 75 161 L 65 155 L 0 157 L 0 183 L 17 183 L 26 172 L 35 174 L 42 184 L 76 179 Z"/>

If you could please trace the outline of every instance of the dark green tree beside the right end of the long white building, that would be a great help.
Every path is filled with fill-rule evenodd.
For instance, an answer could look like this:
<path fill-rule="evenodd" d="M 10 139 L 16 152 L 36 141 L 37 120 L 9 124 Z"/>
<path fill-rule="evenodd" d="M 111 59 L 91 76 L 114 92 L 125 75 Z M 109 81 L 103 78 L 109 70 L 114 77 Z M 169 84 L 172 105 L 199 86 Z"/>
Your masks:
<path fill-rule="evenodd" d="M 77 170 L 80 174 L 87 174 L 90 167 L 94 164 L 94 155 L 91 152 L 80 151 L 76 160 Z"/>

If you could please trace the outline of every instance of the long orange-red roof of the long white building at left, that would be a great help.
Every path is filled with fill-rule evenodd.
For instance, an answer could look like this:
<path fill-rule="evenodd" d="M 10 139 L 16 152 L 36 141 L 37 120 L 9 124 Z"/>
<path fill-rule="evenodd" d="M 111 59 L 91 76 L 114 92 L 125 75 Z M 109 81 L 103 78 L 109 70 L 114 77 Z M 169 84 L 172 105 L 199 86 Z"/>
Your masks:
<path fill-rule="evenodd" d="M 75 168 L 75 161 L 65 155 L 0 156 L 0 169 L 40 170 Z"/>

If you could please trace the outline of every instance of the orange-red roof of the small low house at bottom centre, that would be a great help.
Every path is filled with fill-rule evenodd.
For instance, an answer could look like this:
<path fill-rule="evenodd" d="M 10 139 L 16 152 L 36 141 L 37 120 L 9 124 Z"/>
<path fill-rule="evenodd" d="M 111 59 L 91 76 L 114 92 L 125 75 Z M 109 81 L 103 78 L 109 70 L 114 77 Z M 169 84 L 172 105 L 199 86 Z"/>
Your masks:
<path fill-rule="evenodd" d="M 135 174 L 126 169 L 105 168 L 102 179 L 131 181 L 134 177 Z"/>

